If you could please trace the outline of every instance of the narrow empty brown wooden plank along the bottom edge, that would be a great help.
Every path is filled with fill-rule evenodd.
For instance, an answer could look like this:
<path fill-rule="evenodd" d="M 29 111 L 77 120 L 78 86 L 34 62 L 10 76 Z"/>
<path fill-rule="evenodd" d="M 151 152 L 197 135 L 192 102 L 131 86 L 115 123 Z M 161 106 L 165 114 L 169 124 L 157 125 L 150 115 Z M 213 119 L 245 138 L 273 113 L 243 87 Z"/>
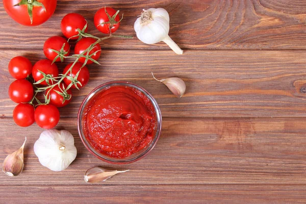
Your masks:
<path fill-rule="evenodd" d="M 304 203 L 303 185 L 6 186 L 4 203 Z"/>

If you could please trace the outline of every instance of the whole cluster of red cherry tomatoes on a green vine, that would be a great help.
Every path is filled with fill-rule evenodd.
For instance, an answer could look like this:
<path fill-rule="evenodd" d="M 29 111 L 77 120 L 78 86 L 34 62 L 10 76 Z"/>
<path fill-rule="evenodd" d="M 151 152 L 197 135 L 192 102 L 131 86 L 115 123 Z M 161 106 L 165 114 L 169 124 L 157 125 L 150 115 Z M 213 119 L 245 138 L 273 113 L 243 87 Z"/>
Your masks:
<path fill-rule="evenodd" d="M 114 33 L 120 24 L 117 14 L 114 9 L 108 7 L 98 10 L 94 16 L 95 27 L 105 34 Z M 89 81 L 89 71 L 84 65 L 97 63 L 100 57 L 101 47 L 97 43 L 99 38 L 86 33 L 87 21 L 82 15 L 69 13 L 64 16 L 61 30 L 69 40 L 84 37 L 74 47 L 74 54 L 80 56 L 79 62 L 68 64 L 63 73 L 59 74 L 54 62 L 63 62 L 69 56 L 70 44 L 60 36 L 53 36 L 45 41 L 43 53 L 47 59 L 37 61 L 34 66 L 29 59 L 21 56 L 14 57 L 9 63 L 9 72 L 16 79 L 9 86 L 9 97 L 18 104 L 13 111 L 13 119 L 19 126 L 30 126 L 36 122 L 44 129 L 55 127 L 60 119 L 58 108 L 68 105 L 72 99 L 70 88 L 79 89 Z M 86 50 L 88 54 L 84 53 Z M 31 78 L 35 82 L 34 87 L 30 82 Z M 42 104 L 38 101 L 35 108 L 34 99 L 37 99 L 36 94 L 41 90 L 45 91 L 47 102 Z"/>

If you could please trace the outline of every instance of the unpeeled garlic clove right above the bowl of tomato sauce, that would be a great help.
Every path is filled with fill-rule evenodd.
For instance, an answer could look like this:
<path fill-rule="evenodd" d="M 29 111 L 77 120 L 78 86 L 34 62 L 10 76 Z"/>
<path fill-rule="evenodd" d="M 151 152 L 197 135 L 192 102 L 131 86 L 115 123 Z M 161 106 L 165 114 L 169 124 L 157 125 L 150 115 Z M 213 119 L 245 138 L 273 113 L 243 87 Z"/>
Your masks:
<path fill-rule="evenodd" d="M 153 73 L 152 73 L 152 76 L 156 81 L 159 81 L 163 83 L 164 85 L 166 85 L 168 89 L 177 97 L 182 97 L 184 95 L 186 91 L 186 84 L 181 78 L 170 77 L 167 79 L 158 80 L 154 77 Z"/>

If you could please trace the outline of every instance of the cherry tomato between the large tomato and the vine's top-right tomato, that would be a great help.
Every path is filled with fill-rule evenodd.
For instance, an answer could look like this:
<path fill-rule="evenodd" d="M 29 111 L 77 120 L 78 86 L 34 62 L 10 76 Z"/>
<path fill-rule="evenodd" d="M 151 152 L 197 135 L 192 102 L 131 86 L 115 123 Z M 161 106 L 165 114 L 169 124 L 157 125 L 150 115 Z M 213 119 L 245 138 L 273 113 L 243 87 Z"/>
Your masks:
<path fill-rule="evenodd" d="M 61 30 L 62 33 L 66 38 L 70 38 L 71 40 L 77 40 L 79 37 L 73 37 L 75 35 L 78 35 L 78 29 L 81 31 L 85 27 L 87 21 L 85 18 L 78 14 L 78 13 L 68 13 L 65 15 L 61 21 Z M 87 32 L 87 28 L 85 29 L 85 32 Z"/>

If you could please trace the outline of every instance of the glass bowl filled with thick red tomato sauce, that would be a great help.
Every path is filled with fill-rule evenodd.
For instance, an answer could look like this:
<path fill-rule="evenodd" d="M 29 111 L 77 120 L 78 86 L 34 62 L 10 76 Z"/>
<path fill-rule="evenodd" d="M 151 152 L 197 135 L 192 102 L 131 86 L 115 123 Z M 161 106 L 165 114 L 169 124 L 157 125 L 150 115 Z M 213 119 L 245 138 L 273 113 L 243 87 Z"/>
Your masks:
<path fill-rule="evenodd" d="M 84 99 L 78 115 L 84 145 L 110 163 L 130 163 L 145 156 L 161 131 L 161 113 L 155 99 L 143 88 L 111 82 Z"/>

